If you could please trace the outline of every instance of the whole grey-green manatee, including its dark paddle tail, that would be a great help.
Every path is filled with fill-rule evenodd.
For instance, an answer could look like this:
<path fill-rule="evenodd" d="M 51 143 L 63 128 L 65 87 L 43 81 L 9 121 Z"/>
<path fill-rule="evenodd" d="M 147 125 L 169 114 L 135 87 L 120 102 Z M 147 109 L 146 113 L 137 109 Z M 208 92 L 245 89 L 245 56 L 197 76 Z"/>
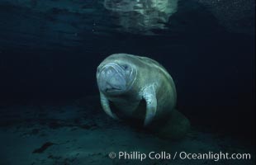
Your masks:
<path fill-rule="evenodd" d="M 154 59 L 111 54 L 97 67 L 97 87 L 103 110 L 115 120 L 126 120 L 159 137 L 179 139 L 189 120 L 175 109 L 173 78 Z"/>

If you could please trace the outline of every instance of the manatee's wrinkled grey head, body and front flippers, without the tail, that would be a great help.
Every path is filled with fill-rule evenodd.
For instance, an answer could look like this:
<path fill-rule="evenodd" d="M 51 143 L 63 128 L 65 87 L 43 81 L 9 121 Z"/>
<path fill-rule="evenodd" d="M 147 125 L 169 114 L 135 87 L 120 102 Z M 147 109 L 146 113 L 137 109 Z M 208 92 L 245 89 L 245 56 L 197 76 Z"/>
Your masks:
<path fill-rule="evenodd" d="M 145 100 L 147 126 L 170 115 L 176 104 L 173 78 L 153 59 L 131 54 L 112 54 L 97 67 L 97 85 L 103 110 L 112 118 L 110 101 L 127 118 L 137 118 L 140 101 Z"/>

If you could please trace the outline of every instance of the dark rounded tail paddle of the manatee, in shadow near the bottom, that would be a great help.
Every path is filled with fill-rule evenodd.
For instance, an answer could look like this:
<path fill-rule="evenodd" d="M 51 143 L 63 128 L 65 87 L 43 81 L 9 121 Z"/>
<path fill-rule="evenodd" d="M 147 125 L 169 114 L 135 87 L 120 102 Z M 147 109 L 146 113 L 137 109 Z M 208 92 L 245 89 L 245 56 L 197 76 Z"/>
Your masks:
<path fill-rule="evenodd" d="M 173 110 L 169 120 L 156 133 L 164 139 L 181 139 L 190 128 L 190 122 L 181 112 Z"/>

